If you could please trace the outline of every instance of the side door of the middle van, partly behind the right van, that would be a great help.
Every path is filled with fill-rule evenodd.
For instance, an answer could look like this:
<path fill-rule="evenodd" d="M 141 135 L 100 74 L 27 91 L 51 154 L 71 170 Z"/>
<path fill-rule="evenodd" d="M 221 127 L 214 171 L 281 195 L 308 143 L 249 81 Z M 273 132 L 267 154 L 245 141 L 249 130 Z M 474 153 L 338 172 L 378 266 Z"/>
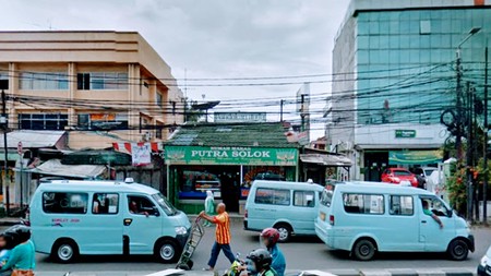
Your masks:
<path fill-rule="evenodd" d="M 314 191 L 294 191 L 294 207 L 290 209 L 290 220 L 296 233 L 315 233 L 314 221 L 318 216 L 316 204 L 319 193 Z"/>

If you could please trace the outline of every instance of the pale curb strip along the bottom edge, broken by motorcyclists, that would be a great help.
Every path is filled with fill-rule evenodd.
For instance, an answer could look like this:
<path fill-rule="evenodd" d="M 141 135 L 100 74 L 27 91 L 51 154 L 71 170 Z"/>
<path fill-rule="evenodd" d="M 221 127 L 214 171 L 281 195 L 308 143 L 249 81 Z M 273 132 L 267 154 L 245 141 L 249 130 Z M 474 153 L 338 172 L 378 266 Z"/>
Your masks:
<path fill-rule="evenodd" d="M 299 271 L 287 271 L 286 276 L 299 275 Z M 36 276 L 63 276 L 65 272 L 36 272 Z M 166 271 L 161 272 L 73 272 L 70 276 L 166 276 L 166 275 L 184 275 L 184 276 L 214 276 L 211 272 L 190 271 L 179 274 L 168 274 Z M 223 272 L 215 274 L 221 276 Z M 421 268 L 421 269 L 333 269 L 324 271 L 307 271 L 304 276 L 472 276 L 476 275 L 476 267 L 460 267 L 460 268 Z"/>

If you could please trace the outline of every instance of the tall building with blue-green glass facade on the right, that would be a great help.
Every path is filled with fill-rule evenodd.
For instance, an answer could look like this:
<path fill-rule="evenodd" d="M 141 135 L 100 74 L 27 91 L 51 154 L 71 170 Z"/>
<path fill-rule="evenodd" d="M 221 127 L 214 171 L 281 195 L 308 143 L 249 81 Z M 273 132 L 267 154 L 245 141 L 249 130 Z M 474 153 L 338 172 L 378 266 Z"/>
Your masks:
<path fill-rule="evenodd" d="M 489 2 L 489 0 L 487 0 Z M 335 39 L 327 144 L 354 160 L 351 178 L 380 180 L 388 166 L 441 159 L 448 133 L 440 123 L 462 87 L 482 93 L 491 2 L 483 0 L 352 0 Z"/>

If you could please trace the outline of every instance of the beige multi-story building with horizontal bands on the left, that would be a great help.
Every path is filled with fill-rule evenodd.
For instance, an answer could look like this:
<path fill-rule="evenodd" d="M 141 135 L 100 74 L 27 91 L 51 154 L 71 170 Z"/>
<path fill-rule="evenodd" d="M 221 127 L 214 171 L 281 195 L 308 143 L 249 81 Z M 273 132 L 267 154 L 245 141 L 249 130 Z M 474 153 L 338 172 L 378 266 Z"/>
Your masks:
<path fill-rule="evenodd" d="M 70 148 L 158 142 L 183 121 L 170 67 L 135 32 L 0 32 L 12 130 L 67 130 Z"/>

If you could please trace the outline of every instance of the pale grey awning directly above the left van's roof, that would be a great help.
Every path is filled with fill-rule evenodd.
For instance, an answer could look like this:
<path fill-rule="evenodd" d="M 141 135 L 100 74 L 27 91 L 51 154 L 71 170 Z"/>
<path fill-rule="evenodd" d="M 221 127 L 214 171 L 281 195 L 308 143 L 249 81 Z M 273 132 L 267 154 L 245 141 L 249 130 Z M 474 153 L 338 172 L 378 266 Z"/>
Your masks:
<path fill-rule="evenodd" d="M 58 177 L 94 179 L 106 170 L 105 166 L 96 165 L 62 165 L 59 159 L 43 163 L 31 170 L 34 173 L 50 175 Z"/>

